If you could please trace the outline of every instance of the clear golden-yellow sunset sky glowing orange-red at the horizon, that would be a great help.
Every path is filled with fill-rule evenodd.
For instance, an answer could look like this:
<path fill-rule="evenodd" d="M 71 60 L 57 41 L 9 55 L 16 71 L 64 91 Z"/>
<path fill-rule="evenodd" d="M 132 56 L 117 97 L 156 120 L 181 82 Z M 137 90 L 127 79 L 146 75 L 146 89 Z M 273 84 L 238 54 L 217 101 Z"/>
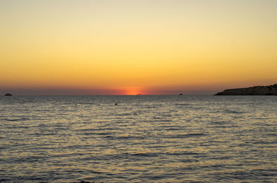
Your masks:
<path fill-rule="evenodd" d="M 0 93 L 211 95 L 277 83 L 276 0 L 0 0 Z"/>

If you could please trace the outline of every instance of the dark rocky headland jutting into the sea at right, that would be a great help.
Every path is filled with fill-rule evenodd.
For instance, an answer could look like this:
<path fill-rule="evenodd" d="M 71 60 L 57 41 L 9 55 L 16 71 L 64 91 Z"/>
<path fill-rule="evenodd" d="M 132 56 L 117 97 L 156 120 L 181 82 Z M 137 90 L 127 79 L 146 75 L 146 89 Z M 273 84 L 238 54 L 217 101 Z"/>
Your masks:
<path fill-rule="evenodd" d="M 227 89 L 215 95 L 277 95 L 277 84 L 270 86 Z"/>

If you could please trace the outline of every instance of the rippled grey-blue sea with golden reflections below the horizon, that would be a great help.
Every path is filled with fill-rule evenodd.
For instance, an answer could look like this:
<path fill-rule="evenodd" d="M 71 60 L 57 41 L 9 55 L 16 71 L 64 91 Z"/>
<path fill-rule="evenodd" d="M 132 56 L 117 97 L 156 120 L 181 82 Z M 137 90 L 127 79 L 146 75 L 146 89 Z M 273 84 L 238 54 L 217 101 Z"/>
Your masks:
<path fill-rule="evenodd" d="M 0 97 L 0 182 L 82 180 L 277 182 L 277 97 Z"/>

